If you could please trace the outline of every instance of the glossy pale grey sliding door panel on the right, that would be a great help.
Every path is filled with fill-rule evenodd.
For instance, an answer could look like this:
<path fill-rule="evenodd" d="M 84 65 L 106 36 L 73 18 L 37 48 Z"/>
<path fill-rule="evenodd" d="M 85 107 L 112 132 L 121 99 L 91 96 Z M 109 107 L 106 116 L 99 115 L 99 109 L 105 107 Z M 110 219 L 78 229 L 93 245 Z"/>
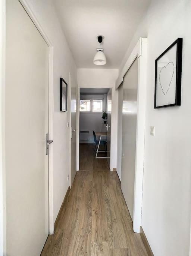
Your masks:
<path fill-rule="evenodd" d="M 138 59 L 123 78 L 121 189 L 133 219 L 137 133 Z"/>

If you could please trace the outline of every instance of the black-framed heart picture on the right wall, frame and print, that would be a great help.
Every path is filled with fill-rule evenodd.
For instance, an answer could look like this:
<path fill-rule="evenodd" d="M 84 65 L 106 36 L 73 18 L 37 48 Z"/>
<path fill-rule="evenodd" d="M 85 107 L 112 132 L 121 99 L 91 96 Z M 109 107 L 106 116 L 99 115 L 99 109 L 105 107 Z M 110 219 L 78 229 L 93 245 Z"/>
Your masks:
<path fill-rule="evenodd" d="M 182 38 L 155 60 L 154 108 L 181 105 Z"/>

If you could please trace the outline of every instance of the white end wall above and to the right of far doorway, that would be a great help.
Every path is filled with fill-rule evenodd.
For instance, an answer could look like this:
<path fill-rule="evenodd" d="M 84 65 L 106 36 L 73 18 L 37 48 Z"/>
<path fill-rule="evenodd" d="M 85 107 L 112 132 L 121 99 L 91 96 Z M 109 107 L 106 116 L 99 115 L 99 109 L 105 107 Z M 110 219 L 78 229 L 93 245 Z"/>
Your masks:
<path fill-rule="evenodd" d="M 111 169 L 117 166 L 117 102 L 118 91 L 115 90 L 115 81 L 118 78 L 118 69 L 77 69 L 78 87 L 113 88 L 112 90 L 112 143 Z M 115 107 L 114 107 L 115 106 Z"/>

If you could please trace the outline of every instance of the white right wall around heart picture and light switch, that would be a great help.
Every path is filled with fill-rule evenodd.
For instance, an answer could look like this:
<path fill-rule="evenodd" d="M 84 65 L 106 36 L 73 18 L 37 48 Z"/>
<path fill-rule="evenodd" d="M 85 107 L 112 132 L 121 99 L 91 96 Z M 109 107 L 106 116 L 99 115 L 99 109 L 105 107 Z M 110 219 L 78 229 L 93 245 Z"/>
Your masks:
<path fill-rule="evenodd" d="M 153 0 L 135 31 L 148 37 L 142 226 L 155 256 L 188 256 L 191 218 L 191 1 Z M 183 37 L 181 106 L 154 109 L 155 59 Z M 121 69 L 121 68 L 120 68 Z M 155 127 L 155 136 L 150 135 Z"/>

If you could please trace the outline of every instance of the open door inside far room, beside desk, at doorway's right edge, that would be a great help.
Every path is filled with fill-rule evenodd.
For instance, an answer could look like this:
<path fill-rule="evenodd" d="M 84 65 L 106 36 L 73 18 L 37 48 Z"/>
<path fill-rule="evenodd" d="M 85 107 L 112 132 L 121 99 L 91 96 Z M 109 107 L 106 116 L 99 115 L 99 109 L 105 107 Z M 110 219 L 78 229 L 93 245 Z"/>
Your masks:
<path fill-rule="evenodd" d="M 107 135 L 111 136 L 111 119 L 112 119 L 112 89 L 107 93 Z M 107 136 L 107 163 L 110 167 L 110 150 L 111 150 L 111 137 Z"/>

